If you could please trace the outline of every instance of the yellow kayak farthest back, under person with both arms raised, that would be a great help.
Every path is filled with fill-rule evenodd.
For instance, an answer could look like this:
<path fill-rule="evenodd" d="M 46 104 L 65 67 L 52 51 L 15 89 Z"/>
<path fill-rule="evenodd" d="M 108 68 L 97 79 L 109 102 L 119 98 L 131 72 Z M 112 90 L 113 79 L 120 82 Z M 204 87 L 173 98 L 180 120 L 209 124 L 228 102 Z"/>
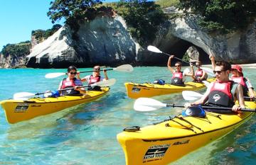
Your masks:
<path fill-rule="evenodd" d="M 214 81 L 215 79 L 208 79 Z M 176 86 L 172 84 L 136 84 L 132 82 L 124 83 L 129 98 L 153 97 L 171 93 L 180 93 L 182 91 L 197 91 L 206 87 L 205 84 L 196 82 L 186 82 L 185 86 Z"/>

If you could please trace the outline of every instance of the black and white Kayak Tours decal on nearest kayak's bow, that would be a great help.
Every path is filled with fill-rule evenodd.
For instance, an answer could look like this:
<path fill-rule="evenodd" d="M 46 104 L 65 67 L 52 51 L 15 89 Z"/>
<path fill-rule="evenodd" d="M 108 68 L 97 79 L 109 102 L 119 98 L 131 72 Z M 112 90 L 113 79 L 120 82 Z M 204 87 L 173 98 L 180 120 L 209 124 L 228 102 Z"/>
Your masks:
<path fill-rule="evenodd" d="M 146 154 L 143 157 L 143 163 L 147 161 L 161 160 L 170 146 L 171 144 L 162 144 L 149 147 L 149 149 L 147 150 Z"/>

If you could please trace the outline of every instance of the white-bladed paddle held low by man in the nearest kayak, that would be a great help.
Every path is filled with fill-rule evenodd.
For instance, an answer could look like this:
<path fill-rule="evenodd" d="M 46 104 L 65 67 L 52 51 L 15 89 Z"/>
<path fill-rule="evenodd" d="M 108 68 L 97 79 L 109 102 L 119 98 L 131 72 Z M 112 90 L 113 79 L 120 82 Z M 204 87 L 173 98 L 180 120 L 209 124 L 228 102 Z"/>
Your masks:
<path fill-rule="evenodd" d="M 161 103 L 160 101 L 156 101 L 153 98 L 138 98 L 134 103 L 134 110 L 141 111 L 141 112 L 148 112 L 152 110 L 158 110 L 164 107 L 179 107 L 185 108 L 184 106 L 176 105 L 176 104 L 166 104 Z M 225 108 L 225 107 L 212 107 L 212 106 L 201 106 L 205 109 L 214 109 L 214 110 L 232 110 L 232 108 Z M 256 112 L 256 109 L 245 109 L 242 108 L 240 111 L 245 112 Z"/>

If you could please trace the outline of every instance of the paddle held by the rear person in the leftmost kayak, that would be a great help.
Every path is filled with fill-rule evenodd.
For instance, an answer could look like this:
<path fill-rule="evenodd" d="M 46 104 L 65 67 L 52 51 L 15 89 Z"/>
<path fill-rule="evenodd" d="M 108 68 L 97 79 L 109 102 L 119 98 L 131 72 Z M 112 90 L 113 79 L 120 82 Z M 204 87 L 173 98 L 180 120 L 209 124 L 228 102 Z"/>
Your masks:
<path fill-rule="evenodd" d="M 119 71 L 119 72 L 132 72 L 133 67 L 130 64 L 123 64 L 123 65 L 120 65 L 119 67 L 116 67 L 116 68 L 101 69 L 100 71 L 103 71 L 103 70 L 107 70 L 107 71 L 115 70 L 115 71 Z M 94 70 L 92 70 L 92 71 L 82 71 L 80 73 L 87 73 L 87 72 L 94 72 Z M 64 76 L 65 74 L 67 74 L 67 73 L 63 73 L 63 72 L 49 73 L 49 74 L 46 74 L 45 77 L 47 79 L 51 79 L 51 78 L 55 78 L 55 77 L 58 77 L 58 76 Z"/>

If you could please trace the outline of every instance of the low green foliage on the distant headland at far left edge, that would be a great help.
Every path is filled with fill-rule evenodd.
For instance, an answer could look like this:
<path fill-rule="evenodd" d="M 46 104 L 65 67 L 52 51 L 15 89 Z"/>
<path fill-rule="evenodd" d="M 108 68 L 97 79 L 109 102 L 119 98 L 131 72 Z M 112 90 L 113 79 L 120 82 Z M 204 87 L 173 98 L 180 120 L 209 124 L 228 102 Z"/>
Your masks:
<path fill-rule="evenodd" d="M 11 55 L 12 57 L 23 57 L 24 55 L 29 55 L 31 48 L 31 42 L 28 40 L 26 42 L 19 42 L 18 44 L 7 44 L 4 46 L 1 53 L 4 57 Z"/>

